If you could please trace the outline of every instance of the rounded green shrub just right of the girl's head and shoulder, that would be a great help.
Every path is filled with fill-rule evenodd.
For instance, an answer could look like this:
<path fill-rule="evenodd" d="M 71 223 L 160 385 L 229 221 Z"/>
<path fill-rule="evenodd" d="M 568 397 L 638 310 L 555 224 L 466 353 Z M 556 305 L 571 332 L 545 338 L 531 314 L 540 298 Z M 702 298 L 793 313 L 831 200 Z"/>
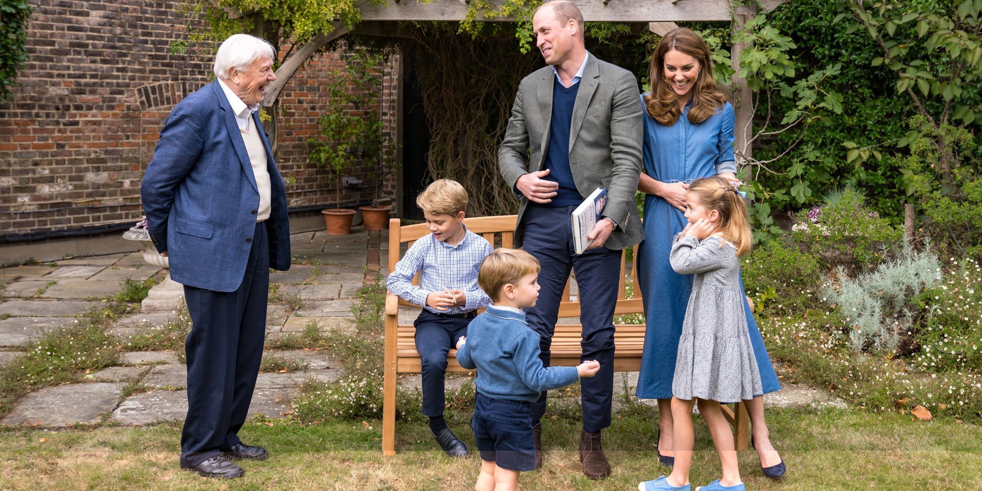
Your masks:
<path fill-rule="evenodd" d="M 782 239 L 754 247 L 741 268 L 743 290 L 758 310 L 809 308 L 822 287 L 818 259 Z"/>

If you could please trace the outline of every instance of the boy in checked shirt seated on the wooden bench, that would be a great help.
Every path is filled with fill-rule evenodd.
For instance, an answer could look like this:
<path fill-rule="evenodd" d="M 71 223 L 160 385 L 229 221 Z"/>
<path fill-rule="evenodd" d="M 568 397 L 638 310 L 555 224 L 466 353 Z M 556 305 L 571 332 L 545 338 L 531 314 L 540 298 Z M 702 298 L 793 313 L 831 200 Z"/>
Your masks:
<path fill-rule="evenodd" d="M 392 295 L 422 308 L 413 325 L 422 378 L 423 414 L 430 431 L 450 457 L 470 451 L 443 417 L 447 353 L 467 334 L 467 324 L 488 296 L 477 287 L 477 269 L 492 247 L 464 226 L 467 191 L 456 181 L 434 181 L 416 197 L 430 234 L 420 237 L 396 263 L 387 287 Z M 419 285 L 412 277 L 419 271 Z"/>

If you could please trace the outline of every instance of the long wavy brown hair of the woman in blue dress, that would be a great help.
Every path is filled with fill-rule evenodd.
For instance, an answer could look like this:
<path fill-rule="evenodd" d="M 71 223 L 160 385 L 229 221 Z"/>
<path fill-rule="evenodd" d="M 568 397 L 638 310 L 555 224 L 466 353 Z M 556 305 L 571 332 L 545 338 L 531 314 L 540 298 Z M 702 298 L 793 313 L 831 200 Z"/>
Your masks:
<path fill-rule="evenodd" d="M 689 92 L 692 106 L 688 110 L 688 121 L 702 123 L 726 104 L 727 96 L 713 81 L 713 59 L 706 41 L 686 27 L 668 31 L 651 54 L 648 65 L 651 91 L 644 96 L 644 106 L 648 115 L 659 124 L 672 126 L 679 121 L 682 107 L 679 106 L 678 95 L 670 82 L 665 81 L 665 54 L 673 49 L 695 58 L 699 63 L 699 75 Z"/>

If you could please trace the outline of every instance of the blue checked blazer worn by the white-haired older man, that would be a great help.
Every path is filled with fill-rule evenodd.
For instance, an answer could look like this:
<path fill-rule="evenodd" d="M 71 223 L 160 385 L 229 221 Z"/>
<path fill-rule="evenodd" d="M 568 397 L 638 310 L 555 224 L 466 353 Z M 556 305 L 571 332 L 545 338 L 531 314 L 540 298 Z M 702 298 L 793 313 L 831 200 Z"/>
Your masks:
<path fill-rule="evenodd" d="M 256 128 L 262 128 L 257 113 Z M 266 147 L 270 178 L 269 265 L 290 268 L 286 187 Z M 259 191 L 246 144 L 221 85 L 178 103 L 164 123 L 139 189 L 150 239 L 170 257 L 171 278 L 215 292 L 239 289 L 255 233 Z"/>

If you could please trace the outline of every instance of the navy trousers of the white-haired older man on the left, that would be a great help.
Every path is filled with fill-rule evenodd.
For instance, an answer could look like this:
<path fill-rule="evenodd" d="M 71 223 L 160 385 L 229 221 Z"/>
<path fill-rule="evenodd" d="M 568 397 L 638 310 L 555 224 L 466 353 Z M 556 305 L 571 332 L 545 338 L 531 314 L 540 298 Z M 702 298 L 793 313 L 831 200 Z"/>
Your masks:
<path fill-rule="evenodd" d="M 235 292 L 185 286 L 191 313 L 188 417 L 181 466 L 200 464 L 239 443 L 259 373 L 269 299 L 269 236 L 257 223 L 246 275 Z"/>

